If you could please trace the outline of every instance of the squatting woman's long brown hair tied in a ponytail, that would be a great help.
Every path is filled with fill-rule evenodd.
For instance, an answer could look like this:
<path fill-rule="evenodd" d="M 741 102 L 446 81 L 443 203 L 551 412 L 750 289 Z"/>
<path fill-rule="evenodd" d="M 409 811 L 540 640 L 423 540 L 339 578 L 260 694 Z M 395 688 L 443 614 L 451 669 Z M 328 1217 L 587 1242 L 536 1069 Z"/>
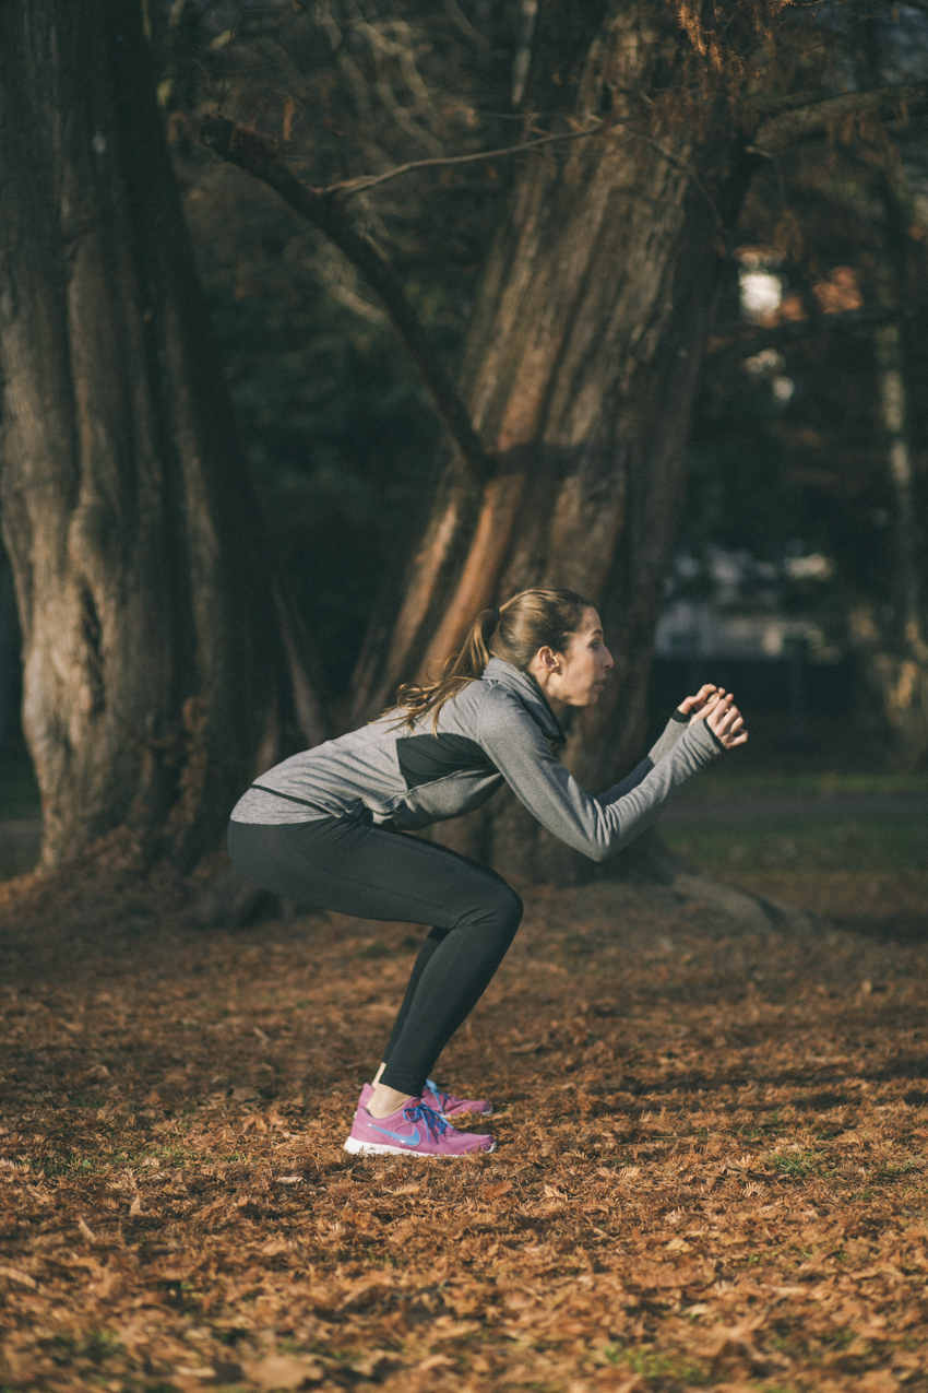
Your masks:
<path fill-rule="evenodd" d="M 590 607 L 576 591 L 520 591 L 499 609 L 480 610 L 459 653 L 447 659 L 434 683 L 403 683 L 391 710 L 402 712 L 399 724 L 410 726 L 433 713 L 431 729 L 438 729 L 444 703 L 474 677 L 480 677 L 491 657 L 501 657 L 526 671 L 540 648 L 566 652 L 570 634 L 580 628 L 583 610 Z"/>

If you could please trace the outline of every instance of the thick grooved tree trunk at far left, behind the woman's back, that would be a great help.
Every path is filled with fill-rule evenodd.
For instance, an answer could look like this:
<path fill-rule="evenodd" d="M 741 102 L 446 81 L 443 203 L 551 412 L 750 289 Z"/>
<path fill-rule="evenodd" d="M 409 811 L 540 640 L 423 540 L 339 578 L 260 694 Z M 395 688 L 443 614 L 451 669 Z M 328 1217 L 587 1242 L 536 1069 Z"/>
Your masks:
<path fill-rule="evenodd" d="M 211 848 L 294 702 L 136 4 L 0 7 L 3 525 L 43 864 Z M 259 748 L 263 747 L 263 748 Z"/>

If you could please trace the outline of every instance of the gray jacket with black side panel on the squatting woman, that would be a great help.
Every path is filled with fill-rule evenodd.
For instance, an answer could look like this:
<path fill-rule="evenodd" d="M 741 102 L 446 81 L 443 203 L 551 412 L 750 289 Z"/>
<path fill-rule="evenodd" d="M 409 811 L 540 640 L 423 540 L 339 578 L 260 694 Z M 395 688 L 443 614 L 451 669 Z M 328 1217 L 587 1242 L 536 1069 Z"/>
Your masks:
<path fill-rule="evenodd" d="M 675 713 L 626 779 L 598 797 L 561 763 L 563 731 L 529 673 L 491 657 L 483 676 L 413 723 L 399 710 L 274 765 L 239 798 L 234 822 L 370 816 L 398 832 L 479 808 L 509 784 L 543 827 L 605 861 L 648 827 L 675 788 L 721 752 L 704 720 Z"/>

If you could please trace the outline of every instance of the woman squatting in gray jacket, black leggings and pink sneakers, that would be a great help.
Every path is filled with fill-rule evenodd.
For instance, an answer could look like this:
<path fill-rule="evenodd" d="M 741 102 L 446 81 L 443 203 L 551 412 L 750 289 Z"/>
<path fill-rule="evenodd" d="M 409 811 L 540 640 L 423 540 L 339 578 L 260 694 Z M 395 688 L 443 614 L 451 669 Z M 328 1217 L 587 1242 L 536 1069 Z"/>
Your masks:
<path fill-rule="evenodd" d="M 431 925 L 346 1151 L 494 1148 L 490 1134 L 448 1121 L 490 1103 L 442 1094 L 429 1075 L 497 971 L 522 903 L 494 871 L 403 832 L 477 808 L 506 783 L 548 832 L 604 861 L 650 826 L 673 788 L 747 740 L 730 694 L 707 684 L 626 779 L 591 797 L 557 758 L 557 713 L 595 702 L 611 669 L 593 605 L 573 591 L 523 591 L 481 612 L 437 683 L 401 687 L 395 708 L 275 765 L 232 809 L 230 854 L 266 889 Z"/>

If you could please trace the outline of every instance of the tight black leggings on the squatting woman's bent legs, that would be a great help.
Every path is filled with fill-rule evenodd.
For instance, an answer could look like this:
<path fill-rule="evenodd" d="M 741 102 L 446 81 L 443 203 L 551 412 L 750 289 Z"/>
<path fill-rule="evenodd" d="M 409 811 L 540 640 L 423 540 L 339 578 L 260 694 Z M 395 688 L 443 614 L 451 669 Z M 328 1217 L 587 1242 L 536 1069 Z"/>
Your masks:
<path fill-rule="evenodd" d="M 512 943 L 522 900 L 495 871 L 359 818 L 230 822 L 243 875 L 296 904 L 433 925 L 384 1052 L 381 1082 L 417 1098 Z"/>

